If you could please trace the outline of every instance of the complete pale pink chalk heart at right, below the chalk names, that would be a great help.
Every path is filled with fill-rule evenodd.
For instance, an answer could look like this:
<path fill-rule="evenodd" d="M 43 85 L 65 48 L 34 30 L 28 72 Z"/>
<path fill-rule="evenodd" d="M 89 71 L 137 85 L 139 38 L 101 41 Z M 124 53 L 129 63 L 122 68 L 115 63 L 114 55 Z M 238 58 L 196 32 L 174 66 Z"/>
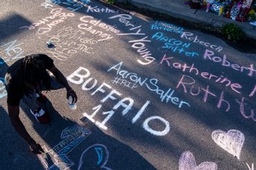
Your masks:
<path fill-rule="evenodd" d="M 229 130 L 227 133 L 222 130 L 214 130 L 212 133 L 214 142 L 231 153 L 236 158 L 240 158 L 240 153 L 244 144 L 244 134 L 239 130 Z"/>

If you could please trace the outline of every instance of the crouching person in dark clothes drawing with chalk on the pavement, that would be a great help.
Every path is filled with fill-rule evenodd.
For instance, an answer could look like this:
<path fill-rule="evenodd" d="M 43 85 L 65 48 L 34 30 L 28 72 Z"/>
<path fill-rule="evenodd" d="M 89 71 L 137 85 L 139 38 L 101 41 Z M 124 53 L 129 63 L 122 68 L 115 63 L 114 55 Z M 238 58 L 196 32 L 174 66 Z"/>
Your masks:
<path fill-rule="evenodd" d="M 8 113 L 14 129 L 29 144 L 33 153 L 43 152 L 43 149 L 30 137 L 20 121 L 20 99 L 30 107 L 30 112 L 38 122 L 48 123 L 49 117 L 39 104 L 46 99 L 41 91 L 65 87 L 67 98 L 72 96 L 72 102 L 77 102 L 75 91 L 69 86 L 61 71 L 54 66 L 54 61 L 44 54 L 27 55 L 16 61 L 7 69 L 4 79 L 7 89 Z"/>

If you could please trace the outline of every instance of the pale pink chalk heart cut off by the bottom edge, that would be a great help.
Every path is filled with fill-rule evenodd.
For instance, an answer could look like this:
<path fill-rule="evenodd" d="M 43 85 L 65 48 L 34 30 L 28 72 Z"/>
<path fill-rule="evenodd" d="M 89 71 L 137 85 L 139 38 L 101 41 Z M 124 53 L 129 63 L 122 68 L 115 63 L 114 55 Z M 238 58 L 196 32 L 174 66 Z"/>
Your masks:
<path fill-rule="evenodd" d="M 197 166 L 195 157 L 189 151 L 182 153 L 179 158 L 179 170 L 216 170 L 218 169 L 217 164 L 214 162 L 202 162 Z"/>

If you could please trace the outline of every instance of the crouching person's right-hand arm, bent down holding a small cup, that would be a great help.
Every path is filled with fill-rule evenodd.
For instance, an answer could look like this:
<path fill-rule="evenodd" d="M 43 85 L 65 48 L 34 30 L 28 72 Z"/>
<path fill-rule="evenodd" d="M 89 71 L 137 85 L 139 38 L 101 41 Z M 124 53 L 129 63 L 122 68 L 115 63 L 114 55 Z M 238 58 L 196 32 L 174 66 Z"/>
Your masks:
<path fill-rule="evenodd" d="M 69 96 L 72 96 L 73 97 L 72 103 L 77 102 L 77 94 L 69 86 L 69 83 L 67 82 L 67 79 L 65 78 L 63 73 L 61 73 L 61 71 L 59 71 L 59 69 L 56 68 L 56 66 L 53 66 L 51 69 L 48 69 L 48 70 L 51 71 L 51 73 L 54 74 L 56 80 L 59 81 L 67 89 L 67 99 L 69 98 Z"/>

